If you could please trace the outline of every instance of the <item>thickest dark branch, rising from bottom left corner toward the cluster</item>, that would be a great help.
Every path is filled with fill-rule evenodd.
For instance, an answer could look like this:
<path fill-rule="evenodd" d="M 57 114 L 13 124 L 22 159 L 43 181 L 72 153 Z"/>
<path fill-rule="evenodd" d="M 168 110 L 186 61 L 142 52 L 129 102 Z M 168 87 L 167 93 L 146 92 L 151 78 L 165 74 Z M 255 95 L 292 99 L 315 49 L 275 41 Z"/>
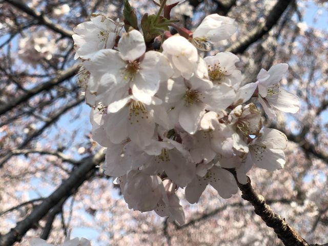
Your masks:
<path fill-rule="evenodd" d="M 24 220 L 19 221 L 15 228 L 0 237 L 0 245 L 9 246 L 14 242 L 20 241 L 25 233 L 30 230 L 35 223 L 42 219 L 50 209 L 52 209 L 63 197 L 70 196 L 83 184 L 85 180 L 90 178 L 95 171 L 95 166 L 104 161 L 103 150 L 100 150 L 94 156 L 87 157 L 81 161 L 71 174 L 71 176 L 63 181 L 61 185 L 44 201 L 37 206 L 31 214 Z"/>

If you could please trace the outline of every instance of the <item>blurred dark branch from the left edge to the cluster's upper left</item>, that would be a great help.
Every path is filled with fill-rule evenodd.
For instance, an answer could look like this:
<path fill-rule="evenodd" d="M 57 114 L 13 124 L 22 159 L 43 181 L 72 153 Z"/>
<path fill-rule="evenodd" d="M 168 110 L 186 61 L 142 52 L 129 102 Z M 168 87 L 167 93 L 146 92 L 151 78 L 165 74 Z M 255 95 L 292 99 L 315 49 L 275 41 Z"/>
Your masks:
<path fill-rule="evenodd" d="M 13 100 L 9 101 L 7 104 L 0 107 L 0 115 L 5 114 L 9 110 L 15 108 L 19 104 L 24 103 L 31 97 L 35 96 L 36 94 L 42 91 L 48 91 L 54 86 L 63 83 L 66 79 L 69 79 L 75 75 L 77 72 L 78 65 L 74 65 L 73 67 L 67 69 L 66 71 L 59 72 L 57 77 L 47 81 L 46 83 L 40 84 L 39 86 L 34 87 L 33 89 L 29 90 L 27 93 L 17 96 Z"/>

